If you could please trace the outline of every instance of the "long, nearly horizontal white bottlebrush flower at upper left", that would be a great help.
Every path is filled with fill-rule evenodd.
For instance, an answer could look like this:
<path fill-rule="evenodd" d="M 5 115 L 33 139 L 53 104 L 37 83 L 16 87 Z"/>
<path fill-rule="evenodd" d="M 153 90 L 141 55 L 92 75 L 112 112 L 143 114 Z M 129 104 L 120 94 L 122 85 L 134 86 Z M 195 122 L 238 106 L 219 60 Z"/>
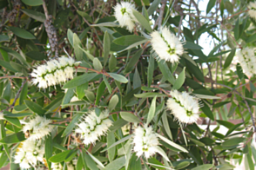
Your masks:
<path fill-rule="evenodd" d="M 75 62 L 71 57 L 62 56 L 56 60 L 51 60 L 33 70 L 31 73 L 32 82 L 33 84 L 38 83 L 38 88 L 47 88 L 66 82 L 73 78 L 74 66 L 77 64 L 79 62 Z"/>

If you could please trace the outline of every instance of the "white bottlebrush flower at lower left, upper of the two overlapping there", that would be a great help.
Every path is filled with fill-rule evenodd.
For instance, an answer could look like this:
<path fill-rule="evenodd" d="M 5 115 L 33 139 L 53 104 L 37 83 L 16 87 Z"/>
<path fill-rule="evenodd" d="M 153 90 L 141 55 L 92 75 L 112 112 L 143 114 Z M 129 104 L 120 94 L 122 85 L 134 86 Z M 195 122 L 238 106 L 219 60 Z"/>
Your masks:
<path fill-rule="evenodd" d="M 31 119 L 28 123 L 26 123 L 23 128 L 24 134 L 29 141 L 39 140 L 51 133 L 53 126 L 49 125 L 50 123 L 51 120 L 37 115 L 37 117 Z"/>

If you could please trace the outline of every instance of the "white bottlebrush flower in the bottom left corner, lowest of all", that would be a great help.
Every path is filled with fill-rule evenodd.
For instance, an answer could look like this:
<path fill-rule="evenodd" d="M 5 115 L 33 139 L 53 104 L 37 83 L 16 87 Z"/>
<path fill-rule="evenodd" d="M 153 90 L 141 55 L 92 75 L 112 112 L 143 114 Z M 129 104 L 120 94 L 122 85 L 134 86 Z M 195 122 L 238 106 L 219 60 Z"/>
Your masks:
<path fill-rule="evenodd" d="M 38 161 L 45 162 L 42 141 L 26 140 L 22 142 L 17 148 L 14 162 L 18 163 L 23 169 L 29 169 L 30 167 L 37 167 Z"/>

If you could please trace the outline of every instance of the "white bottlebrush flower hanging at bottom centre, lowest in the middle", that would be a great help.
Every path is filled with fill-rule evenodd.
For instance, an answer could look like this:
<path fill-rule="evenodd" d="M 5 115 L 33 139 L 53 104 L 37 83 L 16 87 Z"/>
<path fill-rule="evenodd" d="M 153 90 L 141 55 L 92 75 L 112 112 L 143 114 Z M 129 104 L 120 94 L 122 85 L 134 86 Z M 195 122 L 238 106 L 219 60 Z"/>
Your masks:
<path fill-rule="evenodd" d="M 147 127 L 147 125 L 135 129 L 133 143 L 133 150 L 138 157 L 144 154 L 145 158 L 148 159 L 158 152 L 158 136 L 152 130 L 152 127 Z"/>

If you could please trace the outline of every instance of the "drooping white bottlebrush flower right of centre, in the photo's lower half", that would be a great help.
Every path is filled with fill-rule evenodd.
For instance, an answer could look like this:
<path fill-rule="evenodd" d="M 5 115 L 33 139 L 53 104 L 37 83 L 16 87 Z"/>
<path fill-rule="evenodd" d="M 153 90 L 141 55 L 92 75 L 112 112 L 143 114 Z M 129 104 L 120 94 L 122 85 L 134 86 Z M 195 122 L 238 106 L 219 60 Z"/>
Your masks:
<path fill-rule="evenodd" d="M 166 108 L 170 109 L 174 119 L 179 123 L 192 124 L 199 119 L 199 99 L 187 92 L 180 93 L 177 90 L 170 92 L 172 98 L 166 102 Z"/>

